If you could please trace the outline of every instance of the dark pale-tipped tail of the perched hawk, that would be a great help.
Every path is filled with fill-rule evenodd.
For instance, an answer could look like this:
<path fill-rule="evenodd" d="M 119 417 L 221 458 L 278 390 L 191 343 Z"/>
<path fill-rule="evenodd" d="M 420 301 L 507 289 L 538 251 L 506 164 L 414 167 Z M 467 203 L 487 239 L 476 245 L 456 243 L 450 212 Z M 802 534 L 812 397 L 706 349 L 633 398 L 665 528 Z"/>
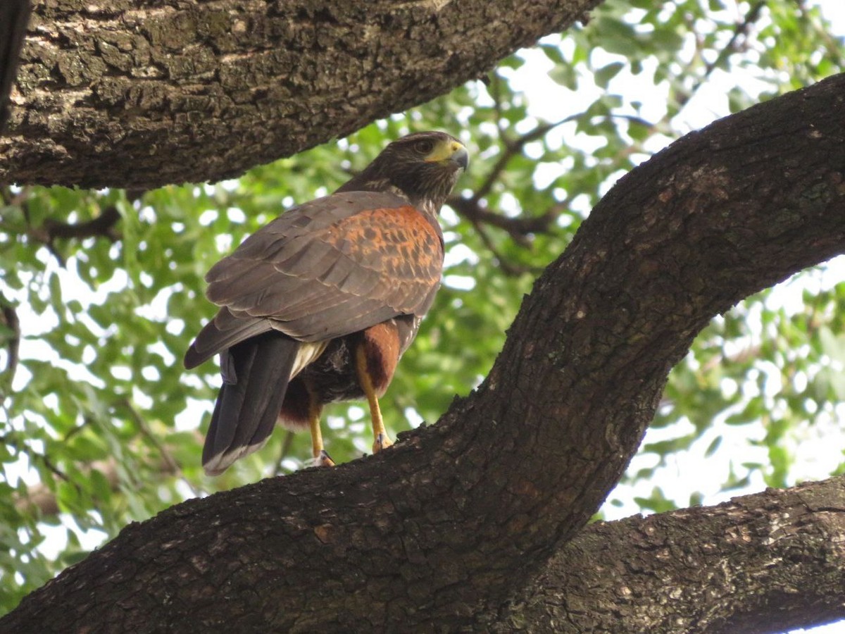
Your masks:
<path fill-rule="evenodd" d="M 299 342 L 291 337 L 267 332 L 222 353 L 232 358 L 221 363 L 228 369 L 205 436 L 205 473 L 223 473 L 264 445 L 279 416 L 298 350 Z"/>

